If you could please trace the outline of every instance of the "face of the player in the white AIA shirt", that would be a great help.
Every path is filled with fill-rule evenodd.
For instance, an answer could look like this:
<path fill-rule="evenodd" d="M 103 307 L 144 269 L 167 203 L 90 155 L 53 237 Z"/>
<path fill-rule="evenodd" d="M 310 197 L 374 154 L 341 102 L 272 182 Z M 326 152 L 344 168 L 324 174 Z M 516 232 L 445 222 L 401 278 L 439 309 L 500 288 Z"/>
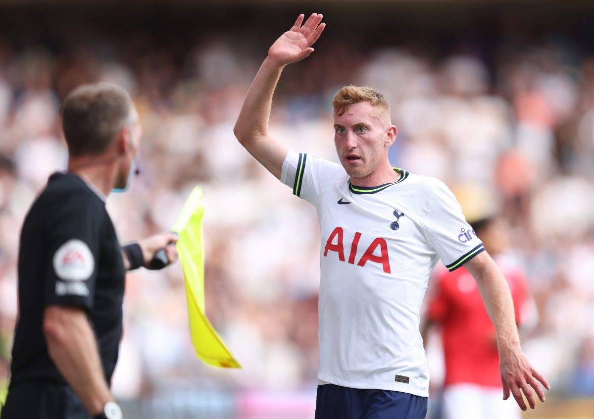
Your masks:
<path fill-rule="evenodd" d="M 334 112 L 334 145 L 340 162 L 353 179 L 367 178 L 382 162 L 387 162 L 395 132 L 388 115 L 369 102 L 356 103 L 342 115 Z"/>

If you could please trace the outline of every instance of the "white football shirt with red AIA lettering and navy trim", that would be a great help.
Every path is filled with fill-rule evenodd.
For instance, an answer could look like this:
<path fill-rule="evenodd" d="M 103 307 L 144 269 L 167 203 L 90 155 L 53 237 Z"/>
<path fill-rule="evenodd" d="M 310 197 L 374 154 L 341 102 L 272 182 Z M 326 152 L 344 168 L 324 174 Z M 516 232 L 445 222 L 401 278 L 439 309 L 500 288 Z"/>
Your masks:
<path fill-rule="evenodd" d="M 356 187 L 341 165 L 290 151 L 281 181 L 317 209 L 322 382 L 428 396 L 421 303 L 439 259 L 454 270 L 485 248 L 435 178 Z"/>

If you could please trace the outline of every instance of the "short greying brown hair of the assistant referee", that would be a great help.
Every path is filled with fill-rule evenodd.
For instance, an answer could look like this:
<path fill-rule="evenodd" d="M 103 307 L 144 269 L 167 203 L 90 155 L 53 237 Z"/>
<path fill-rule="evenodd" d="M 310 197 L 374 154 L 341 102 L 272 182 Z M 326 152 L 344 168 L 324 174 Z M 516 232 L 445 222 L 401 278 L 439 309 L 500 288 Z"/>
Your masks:
<path fill-rule="evenodd" d="M 60 114 L 71 156 L 100 155 L 131 118 L 128 92 L 111 83 L 83 84 L 68 94 Z"/>

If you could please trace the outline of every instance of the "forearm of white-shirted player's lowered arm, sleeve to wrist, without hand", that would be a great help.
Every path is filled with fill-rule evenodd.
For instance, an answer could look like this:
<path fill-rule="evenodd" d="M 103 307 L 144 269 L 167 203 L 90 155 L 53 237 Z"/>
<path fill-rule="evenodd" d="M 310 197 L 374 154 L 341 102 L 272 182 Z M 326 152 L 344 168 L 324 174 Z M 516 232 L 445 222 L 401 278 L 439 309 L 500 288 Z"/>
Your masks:
<path fill-rule="evenodd" d="M 519 347 L 520 338 L 517 331 L 514 304 L 510 288 L 503 273 L 486 252 L 479 254 L 469 263 L 477 259 L 470 272 L 476 280 L 482 300 L 497 332 L 497 345 L 501 351 Z"/>

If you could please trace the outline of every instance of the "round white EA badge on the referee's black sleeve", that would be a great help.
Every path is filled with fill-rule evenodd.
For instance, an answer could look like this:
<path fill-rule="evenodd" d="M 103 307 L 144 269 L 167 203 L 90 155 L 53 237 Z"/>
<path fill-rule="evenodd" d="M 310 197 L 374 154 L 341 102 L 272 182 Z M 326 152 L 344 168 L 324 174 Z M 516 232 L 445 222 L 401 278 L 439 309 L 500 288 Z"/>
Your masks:
<path fill-rule="evenodd" d="M 68 240 L 53 255 L 53 270 L 62 281 L 86 281 L 94 268 L 93 253 L 82 240 Z"/>

